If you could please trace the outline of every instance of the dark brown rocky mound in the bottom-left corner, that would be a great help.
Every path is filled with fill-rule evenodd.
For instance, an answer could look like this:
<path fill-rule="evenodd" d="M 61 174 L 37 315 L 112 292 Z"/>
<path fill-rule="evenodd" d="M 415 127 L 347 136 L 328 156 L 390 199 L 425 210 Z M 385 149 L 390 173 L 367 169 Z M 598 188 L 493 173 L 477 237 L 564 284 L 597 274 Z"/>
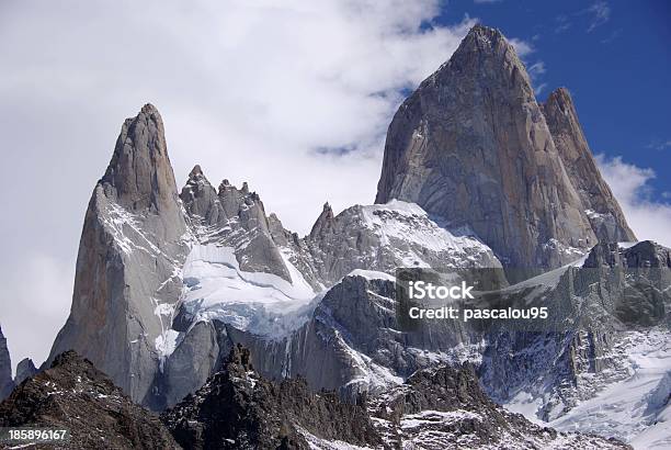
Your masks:
<path fill-rule="evenodd" d="M 70 441 L 49 448 L 177 449 L 157 416 L 134 404 L 73 351 L 26 380 L 0 404 L 0 426 L 67 428 Z"/>

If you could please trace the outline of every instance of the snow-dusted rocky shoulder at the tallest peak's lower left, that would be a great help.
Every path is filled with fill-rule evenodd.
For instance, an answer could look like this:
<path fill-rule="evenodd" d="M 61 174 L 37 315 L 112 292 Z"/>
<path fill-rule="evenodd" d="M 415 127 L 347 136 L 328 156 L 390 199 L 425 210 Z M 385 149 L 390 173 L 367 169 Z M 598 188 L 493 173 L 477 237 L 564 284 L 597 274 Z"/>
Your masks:
<path fill-rule="evenodd" d="M 477 236 L 450 230 L 417 204 L 398 200 L 354 205 L 336 216 L 325 205 L 299 252 L 326 285 L 355 269 L 501 267 Z"/>

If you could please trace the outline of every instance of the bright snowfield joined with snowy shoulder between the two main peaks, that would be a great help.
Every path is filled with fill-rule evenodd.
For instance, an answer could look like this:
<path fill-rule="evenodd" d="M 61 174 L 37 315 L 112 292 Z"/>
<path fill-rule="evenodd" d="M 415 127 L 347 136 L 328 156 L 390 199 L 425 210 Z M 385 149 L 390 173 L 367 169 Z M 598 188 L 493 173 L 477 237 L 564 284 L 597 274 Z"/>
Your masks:
<path fill-rule="evenodd" d="M 201 189 L 212 189 L 205 182 L 198 172 Z M 193 185 L 190 189 L 193 194 Z M 253 201 L 258 203 L 258 196 Z M 243 205 L 249 209 L 249 201 Z M 227 224 L 232 221 L 237 220 L 228 218 Z M 258 256 L 240 251 L 249 241 L 234 232 L 235 226 L 215 230 L 216 226 L 204 227 L 200 216 L 192 217 L 192 223 L 196 224 L 195 243 L 181 271 L 182 312 L 192 322 L 219 320 L 270 337 L 281 337 L 303 325 L 314 310 L 314 301 L 333 284 L 331 280 L 350 273 L 388 279 L 402 267 L 499 266 L 491 250 L 476 237 L 455 236 L 421 207 L 396 200 L 385 205 L 353 206 L 326 224 L 318 221 L 316 226 L 321 226 L 322 233 L 312 233 L 298 243 L 275 239 L 273 249 L 283 265 L 276 272 L 286 273 L 284 277 L 249 269 L 249 260 Z M 247 268 L 241 261 L 248 262 Z M 318 283 L 314 282 L 315 273 L 321 274 Z"/>

